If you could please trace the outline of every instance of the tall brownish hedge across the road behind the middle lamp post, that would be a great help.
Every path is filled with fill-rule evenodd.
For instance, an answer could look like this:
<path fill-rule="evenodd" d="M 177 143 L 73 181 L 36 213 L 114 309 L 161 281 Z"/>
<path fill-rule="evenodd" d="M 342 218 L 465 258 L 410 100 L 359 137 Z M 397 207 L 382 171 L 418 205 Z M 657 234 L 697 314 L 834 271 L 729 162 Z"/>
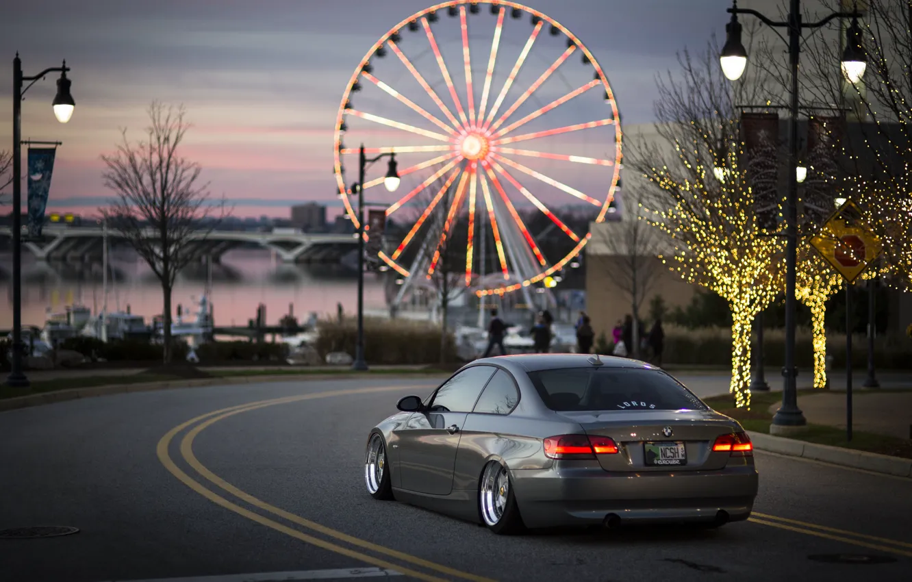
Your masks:
<path fill-rule="evenodd" d="M 326 320 L 318 324 L 317 353 L 344 351 L 355 356 L 358 327 L 353 321 Z M 447 334 L 445 361 L 456 360 L 456 341 Z M 364 351 L 368 364 L 436 364 L 440 362 L 440 326 L 406 319 L 364 320 Z"/>

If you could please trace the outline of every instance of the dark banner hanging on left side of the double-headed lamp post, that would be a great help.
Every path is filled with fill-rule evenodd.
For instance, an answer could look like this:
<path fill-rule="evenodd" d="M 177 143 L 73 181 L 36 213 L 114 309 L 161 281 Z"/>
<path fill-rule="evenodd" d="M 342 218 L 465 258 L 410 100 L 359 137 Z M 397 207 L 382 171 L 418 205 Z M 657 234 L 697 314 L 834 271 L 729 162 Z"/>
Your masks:
<path fill-rule="evenodd" d="M 779 114 L 741 112 L 747 179 L 753 213 L 763 229 L 775 229 L 779 215 Z"/>

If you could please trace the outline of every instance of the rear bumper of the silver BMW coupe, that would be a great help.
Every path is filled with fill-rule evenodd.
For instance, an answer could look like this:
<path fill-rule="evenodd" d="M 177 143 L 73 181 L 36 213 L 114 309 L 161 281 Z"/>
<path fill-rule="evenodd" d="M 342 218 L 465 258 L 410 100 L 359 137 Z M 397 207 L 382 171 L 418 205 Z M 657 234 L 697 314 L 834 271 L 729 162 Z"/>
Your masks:
<path fill-rule="evenodd" d="M 513 494 L 529 527 L 621 522 L 729 521 L 751 515 L 757 472 L 751 463 L 718 471 L 608 473 L 593 467 L 511 472 Z"/>

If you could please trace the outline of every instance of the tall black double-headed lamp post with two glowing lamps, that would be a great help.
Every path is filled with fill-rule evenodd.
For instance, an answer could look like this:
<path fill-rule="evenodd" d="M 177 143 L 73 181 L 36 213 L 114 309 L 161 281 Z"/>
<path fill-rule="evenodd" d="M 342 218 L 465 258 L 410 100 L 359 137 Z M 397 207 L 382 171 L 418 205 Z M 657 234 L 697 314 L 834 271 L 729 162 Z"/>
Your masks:
<path fill-rule="evenodd" d="M 801 1 L 790 0 L 789 16 L 785 22 L 776 22 L 763 16 L 756 10 L 739 8 L 738 2 L 732 2 L 727 10 L 731 14 L 731 22 L 725 26 L 725 46 L 720 53 L 720 66 L 725 77 L 731 80 L 741 78 L 747 65 L 747 50 L 741 43 L 741 24 L 738 15 L 746 14 L 756 16 L 763 24 L 772 28 L 788 28 L 789 32 L 789 69 L 791 73 L 791 119 L 789 120 L 789 168 L 798 167 L 798 59 L 801 54 L 802 30 L 804 28 L 819 28 L 834 18 L 852 18 L 852 26 L 848 31 L 845 52 L 842 56 L 842 70 L 845 78 L 852 83 L 857 83 L 865 74 L 867 57 L 865 49 L 861 46 L 861 28 L 858 26 L 857 11 L 834 12 L 823 20 L 805 23 L 802 20 Z M 785 365 L 782 368 L 782 407 L 776 411 L 772 418 L 771 431 L 787 431 L 783 427 L 797 427 L 807 424 L 804 414 L 798 408 L 798 394 L 796 378 L 798 369 L 795 366 L 795 284 L 798 264 L 798 182 L 801 176 L 797 171 L 789 171 L 789 188 L 785 203 Z"/>

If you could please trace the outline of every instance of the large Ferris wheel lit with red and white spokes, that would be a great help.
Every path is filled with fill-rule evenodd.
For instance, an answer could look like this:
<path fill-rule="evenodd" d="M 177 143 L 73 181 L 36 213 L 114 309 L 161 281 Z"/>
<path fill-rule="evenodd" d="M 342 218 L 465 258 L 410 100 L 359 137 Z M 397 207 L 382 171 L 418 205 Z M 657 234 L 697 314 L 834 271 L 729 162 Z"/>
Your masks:
<path fill-rule="evenodd" d="M 401 240 L 378 253 L 402 277 L 399 296 L 440 268 L 450 236 L 476 295 L 528 298 L 591 236 L 558 214 L 578 206 L 604 221 L 621 169 L 620 116 L 596 57 L 554 19 L 503 0 L 430 6 L 361 59 L 335 131 L 338 192 L 356 228 L 358 192 L 346 168 L 358 167 L 358 144 L 399 162 L 405 188 L 377 188 L 382 172 L 363 184 L 367 199 L 404 224 Z M 428 235 L 422 227 L 438 214 L 445 224 Z M 457 242 L 459 216 L 468 225 Z M 562 240 L 540 244 L 544 234 Z"/>

